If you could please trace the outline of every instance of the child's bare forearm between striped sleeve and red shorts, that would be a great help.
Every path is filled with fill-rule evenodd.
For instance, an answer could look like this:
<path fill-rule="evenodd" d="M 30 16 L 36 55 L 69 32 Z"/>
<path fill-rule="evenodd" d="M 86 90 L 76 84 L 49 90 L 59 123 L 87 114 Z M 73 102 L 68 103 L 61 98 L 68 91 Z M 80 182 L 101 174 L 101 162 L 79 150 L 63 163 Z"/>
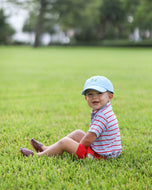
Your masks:
<path fill-rule="evenodd" d="M 96 140 L 96 138 L 97 136 L 95 133 L 87 132 L 87 134 L 81 139 L 80 144 L 88 147 Z"/>

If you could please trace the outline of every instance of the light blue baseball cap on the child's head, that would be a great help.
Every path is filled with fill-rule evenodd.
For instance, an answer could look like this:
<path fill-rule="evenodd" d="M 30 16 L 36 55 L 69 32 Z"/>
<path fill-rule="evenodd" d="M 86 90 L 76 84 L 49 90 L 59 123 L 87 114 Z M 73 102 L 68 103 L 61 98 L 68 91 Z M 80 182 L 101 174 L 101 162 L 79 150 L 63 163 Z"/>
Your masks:
<path fill-rule="evenodd" d="M 86 90 L 97 90 L 99 92 L 112 92 L 114 94 L 114 88 L 109 79 L 104 76 L 93 76 L 89 78 L 84 85 L 82 95 L 85 95 Z"/>

